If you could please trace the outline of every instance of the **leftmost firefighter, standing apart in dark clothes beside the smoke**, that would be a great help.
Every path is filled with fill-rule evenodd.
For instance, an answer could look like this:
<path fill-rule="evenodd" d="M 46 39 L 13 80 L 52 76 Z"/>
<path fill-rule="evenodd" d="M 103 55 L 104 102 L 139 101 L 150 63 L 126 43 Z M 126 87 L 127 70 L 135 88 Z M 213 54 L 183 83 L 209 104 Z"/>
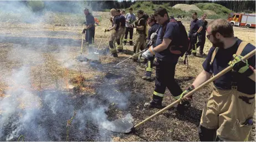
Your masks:
<path fill-rule="evenodd" d="M 95 21 L 93 14 L 89 12 L 88 8 L 84 9 L 84 14 L 85 14 L 85 23 L 86 23 L 86 28 L 83 30 L 83 34 L 85 34 L 85 40 L 86 44 L 93 44 L 94 43 L 94 35 L 95 35 Z"/>

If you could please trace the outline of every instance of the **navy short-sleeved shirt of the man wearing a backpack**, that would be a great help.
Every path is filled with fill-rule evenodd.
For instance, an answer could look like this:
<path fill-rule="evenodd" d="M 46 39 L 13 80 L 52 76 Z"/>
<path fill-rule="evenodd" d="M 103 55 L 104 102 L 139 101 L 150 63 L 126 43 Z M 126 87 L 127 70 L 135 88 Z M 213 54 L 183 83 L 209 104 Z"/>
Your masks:
<path fill-rule="evenodd" d="M 163 28 L 166 29 L 165 32 L 163 31 Z M 157 39 L 156 39 L 156 46 L 160 45 L 163 41 L 163 38 L 171 39 L 171 44 L 168 45 L 168 48 L 161 51 L 156 52 L 157 59 L 161 61 L 171 61 L 171 62 L 178 62 L 178 57 L 180 55 L 172 54 L 170 52 L 170 46 L 175 44 L 177 42 L 180 35 L 180 28 L 178 26 L 177 22 L 170 22 L 170 19 L 168 19 L 163 25 L 161 25 L 161 28 L 158 31 Z"/>

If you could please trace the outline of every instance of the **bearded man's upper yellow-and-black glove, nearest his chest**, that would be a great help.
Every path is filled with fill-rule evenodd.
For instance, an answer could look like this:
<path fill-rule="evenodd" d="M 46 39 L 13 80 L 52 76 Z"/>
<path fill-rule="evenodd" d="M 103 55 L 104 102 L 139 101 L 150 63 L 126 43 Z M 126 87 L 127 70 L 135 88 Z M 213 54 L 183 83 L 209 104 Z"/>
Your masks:
<path fill-rule="evenodd" d="M 253 74 L 254 69 L 248 64 L 247 60 L 242 60 L 243 56 L 233 55 L 234 60 L 228 63 L 229 66 L 233 68 L 234 71 L 237 71 L 245 76 L 250 76 Z"/>

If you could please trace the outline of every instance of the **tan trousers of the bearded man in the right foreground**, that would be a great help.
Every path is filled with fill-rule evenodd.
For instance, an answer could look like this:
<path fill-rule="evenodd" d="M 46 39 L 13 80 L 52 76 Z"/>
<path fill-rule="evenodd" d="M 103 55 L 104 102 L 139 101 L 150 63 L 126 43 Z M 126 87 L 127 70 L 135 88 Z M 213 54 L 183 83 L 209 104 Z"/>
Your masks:
<path fill-rule="evenodd" d="M 236 89 L 214 88 L 203 108 L 199 127 L 201 141 L 248 141 L 253 127 L 255 94 L 244 94 Z"/>

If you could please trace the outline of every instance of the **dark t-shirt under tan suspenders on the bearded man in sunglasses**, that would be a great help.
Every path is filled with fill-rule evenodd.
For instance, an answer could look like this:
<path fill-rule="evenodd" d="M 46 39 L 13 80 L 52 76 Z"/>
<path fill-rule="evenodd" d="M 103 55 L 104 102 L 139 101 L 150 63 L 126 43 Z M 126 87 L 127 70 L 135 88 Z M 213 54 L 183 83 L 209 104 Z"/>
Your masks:
<path fill-rule="evenodd" d="M 242 40 L 238 39 L 237 42 L 228 49 L 219 49 L 217 54 L 214 57 L 212 65 L 211 62 L 212 53 L 214 51 L 214 47 L 212 47 L 209 52 L 206 60 L 203 62 L 203 69 L 209 73 L 213 73 L 213 75 L 217 75 L 217 73 L 226 69 L 229 65 L 228 62 L 233 60 L 233 54 L 237 52 L 238 46 Z M 250 51 L 254 50 L 255 46 L 252 44 L 248 44 L 245 46 L 241 56 L 245 56 Z M 255 55 L 248 59 L 248 64 L 255 69 Z M 255 94 L 255 82 L 250 80 L 249 77 L 244 76 L 236 71 L 229 71 L 226 74 L 219 77 L 217 80 L 213 81 L 214 86 L 219 88 L 220 90 L 231 90 L 231 83 L 237 82 L 237 91 L 245 93 L 245 94 Z"/>

